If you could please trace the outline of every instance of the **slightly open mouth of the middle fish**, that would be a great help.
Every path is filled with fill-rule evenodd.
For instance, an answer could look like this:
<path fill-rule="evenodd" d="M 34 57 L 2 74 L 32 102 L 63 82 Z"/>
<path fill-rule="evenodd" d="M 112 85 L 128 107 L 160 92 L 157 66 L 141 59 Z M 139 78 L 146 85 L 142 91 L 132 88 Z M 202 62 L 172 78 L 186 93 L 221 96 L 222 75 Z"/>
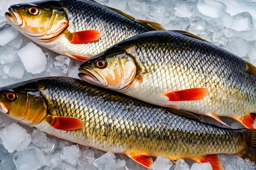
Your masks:
<path fill-rule="evenodd" d="M 108 82 L 106 79 L 98 74 L 97 72 L 94 72 L 90 68 L 79 68 L 78 76 L 85 82 L 91 83 L 93 85 L 97 85 L 100 87 L 106 87 L 108 85 Z"/>

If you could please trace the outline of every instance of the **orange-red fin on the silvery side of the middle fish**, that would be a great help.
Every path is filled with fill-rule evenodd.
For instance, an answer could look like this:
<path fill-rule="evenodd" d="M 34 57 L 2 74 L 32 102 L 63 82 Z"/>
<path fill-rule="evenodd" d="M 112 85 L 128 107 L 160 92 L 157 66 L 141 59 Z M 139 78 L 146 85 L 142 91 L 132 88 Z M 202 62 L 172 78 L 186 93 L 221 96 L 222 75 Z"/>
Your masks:
<path fill-rule="evenodd" d="M 207 88 L 185 89 L 163 94 L 169 98 L 169 101 L 197 101 L 209 94 Z"/>

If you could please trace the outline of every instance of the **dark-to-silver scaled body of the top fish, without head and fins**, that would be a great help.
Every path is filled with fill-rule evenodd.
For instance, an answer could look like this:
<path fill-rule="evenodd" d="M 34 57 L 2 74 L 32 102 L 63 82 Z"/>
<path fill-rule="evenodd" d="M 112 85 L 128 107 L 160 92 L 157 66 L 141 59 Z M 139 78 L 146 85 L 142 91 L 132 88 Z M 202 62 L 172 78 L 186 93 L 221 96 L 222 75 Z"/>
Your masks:
<path fill-rule="evenodd" d="M 121 40 L 150 31 L 140 23 L 92 0 L 63 0 L 61 3 L 72 21 L 69 25 L 71 31 L 98 30 L 102 33 L 99 41 L 87 44 L 74 45 L 64 41 L 64 51 L 72 51 L 73 54 L 94 56 Z"/>

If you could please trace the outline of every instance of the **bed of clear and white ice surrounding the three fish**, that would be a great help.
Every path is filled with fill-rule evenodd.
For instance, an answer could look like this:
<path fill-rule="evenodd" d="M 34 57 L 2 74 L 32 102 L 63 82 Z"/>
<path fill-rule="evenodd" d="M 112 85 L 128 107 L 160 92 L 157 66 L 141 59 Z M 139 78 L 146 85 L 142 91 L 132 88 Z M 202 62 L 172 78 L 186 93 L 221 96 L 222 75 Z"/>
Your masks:
<path fill-rule="evenodd" d="M 8 11 L 10 5 L 31 1 L 35 0 L 0 0 L 0 86 L 45 76 L 79 78 L 77 73 L 80 61 L 60 56 L 31 43 L 31 40 L 18 34 L 18 31 L 7 24 L 4 13 Z M 97 0 L 97 2 L 124 11 L 136 19 L 158 22 L 168 30 L 189 31 L 256 65 L 255 0 Z M 205 116 L 200 118 L 205 122 L 225 127 L 211 118 Z M 221 119 L 232 128 L 243 128 L 243 125 L 233 119 Z M 106 153 L 81 145 L 78 148 L 75 143 L 47 136 L 43 132 L 20 124 L 21 128 L 20 125 L 13 123 L 16 121 L 0 115 L 0 143 L 3 144 L 0 144 L 0 170 L 15 170 L 15 167 L 21 169 L 22 166 L 29 170 L 33 167 L 39 167 L 40 170 L 148 169 L 124 154 Z M 15 131 L 10 129 L 9 125 L 15 127 Z M 3 137 L 4 131 L 8 133 Z M 25 143 L 22 143 L 24 136 L 27 137 Z M 14 155 L 26 152 L 28 159 L 35 161 L 24 160 L 25 162 L 20 166 L 17 163 L 22 159 L 17 159 L 16 166 L 13 162 Z M 37 157 L 38 154 L 41 156 Z M 226 170 L 255 168 L 248 159 L 243 160 L 235 155 L 221 154 L 219 157 Z M 197 164 L 188 159 L 185 161 L 180 159 L 176 163 L 158 157 L 152 168 L 162 170 L 170 167 L 170 170 L 189 170 L 192 166 L 191 169 L 195 170 L 209 166 L 207 163 Z"/>

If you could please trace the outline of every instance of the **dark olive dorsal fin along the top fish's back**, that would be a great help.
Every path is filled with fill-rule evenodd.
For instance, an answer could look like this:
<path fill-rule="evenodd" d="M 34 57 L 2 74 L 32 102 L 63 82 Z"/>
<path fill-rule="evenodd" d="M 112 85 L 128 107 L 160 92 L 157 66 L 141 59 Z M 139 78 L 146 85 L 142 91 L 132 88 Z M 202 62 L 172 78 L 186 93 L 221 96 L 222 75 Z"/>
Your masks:
<path fill-rule="evenodd" d="M 107 7 L 107 6 L 106 6 Z M 155 31 L 155 30 L 166 30 L 164 29 L 164 27 L 156 22 L 152 22 L 152 21 L 146 21 L 146 20 L 136 20 L 134 17 L 128 15 L 127 13 L 124 13 L 118 9 L 112 8 L 112 7 L 108 7 L 109 9 L 112 9 L 113 11 L 116 11 L 117 13 L 120 13 L 121 15 L 129 18 L 130 20 L 133 20 L 135 22 L 139 22 L 141 25 L 144 25 L 145 27 L 149 28 L 151 31 Z"/>

